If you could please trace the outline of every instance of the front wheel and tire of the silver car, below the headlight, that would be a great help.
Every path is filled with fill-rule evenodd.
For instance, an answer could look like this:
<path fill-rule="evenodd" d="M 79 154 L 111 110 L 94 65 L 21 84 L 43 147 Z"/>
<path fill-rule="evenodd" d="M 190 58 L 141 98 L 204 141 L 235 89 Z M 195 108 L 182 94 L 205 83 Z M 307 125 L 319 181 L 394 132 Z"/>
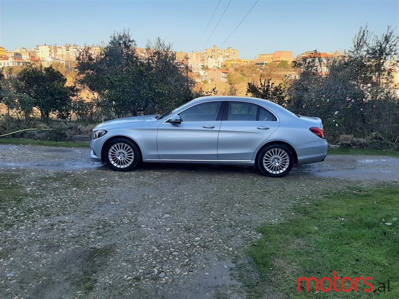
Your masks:
<path fill-rule="evenodd" d="M 104 159 L 113 170 L 129 171 L 140 163 L 141 154 L 133 142 L 125 138 L 118 138 L 106 144 Z"/>

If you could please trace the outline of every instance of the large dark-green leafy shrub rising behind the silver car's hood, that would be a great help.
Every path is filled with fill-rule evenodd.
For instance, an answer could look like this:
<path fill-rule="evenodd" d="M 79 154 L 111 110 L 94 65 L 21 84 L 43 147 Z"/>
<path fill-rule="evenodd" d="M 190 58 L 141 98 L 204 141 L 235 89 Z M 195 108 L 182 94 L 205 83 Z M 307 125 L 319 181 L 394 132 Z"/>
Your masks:
<path fill-rule="evenodd" d="M 129 30 L 116 32 L 100 55 L 77 57 L 79 82 L 99 95 L 97 104 L 116 117 L 165 113 L 193 99 L 195 82 L 184 74 L 170 44 L 157 39 L 139 56 Z"/>

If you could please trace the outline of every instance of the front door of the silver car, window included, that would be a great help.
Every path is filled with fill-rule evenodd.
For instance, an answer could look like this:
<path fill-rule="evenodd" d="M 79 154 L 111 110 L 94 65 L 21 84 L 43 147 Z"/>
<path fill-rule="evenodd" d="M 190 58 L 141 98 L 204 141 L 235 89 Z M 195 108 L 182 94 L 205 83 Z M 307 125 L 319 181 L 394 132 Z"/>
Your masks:
<path fill-rule="evenodd" d="M 160 159 L 216 160 L 222 103 L 200 103 L 179 113 L 180 124 L 162 123 L 157 135 Z"/>

